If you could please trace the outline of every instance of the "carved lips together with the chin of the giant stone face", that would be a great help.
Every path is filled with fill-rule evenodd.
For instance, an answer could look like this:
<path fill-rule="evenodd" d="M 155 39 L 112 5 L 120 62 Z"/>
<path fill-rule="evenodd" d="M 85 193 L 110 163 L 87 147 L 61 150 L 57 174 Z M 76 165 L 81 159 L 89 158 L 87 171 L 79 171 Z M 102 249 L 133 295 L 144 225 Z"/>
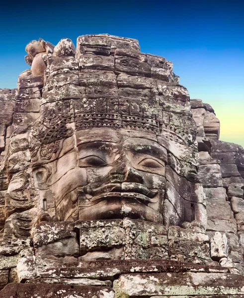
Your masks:
<path fill-rule="evenodd" d="M 162 222 L 162 214 L 152 208 L 160 204 L 160 191 L 140 183 L 110 183 L 98 188 L 83 187 L 80 192 L 80 220 L 130 217 Z"/>

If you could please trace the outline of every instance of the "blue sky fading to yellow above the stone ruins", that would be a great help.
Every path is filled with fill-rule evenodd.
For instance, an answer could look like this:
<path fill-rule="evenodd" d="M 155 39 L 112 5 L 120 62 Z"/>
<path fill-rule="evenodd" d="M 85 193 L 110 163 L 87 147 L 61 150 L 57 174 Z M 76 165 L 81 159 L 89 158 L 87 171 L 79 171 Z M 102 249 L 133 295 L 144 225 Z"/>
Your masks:
<path fill-rule="evenodd" d="M 244 0 L 8 0 L 0 6 L 0 88 L 15 88 L 29 68 L 29 41 L 76 44 L 91 33 L 136 38 L 142 52 L 172 61 L 191 98 L 215 109 L 220 139 L 244 146 Z"/>

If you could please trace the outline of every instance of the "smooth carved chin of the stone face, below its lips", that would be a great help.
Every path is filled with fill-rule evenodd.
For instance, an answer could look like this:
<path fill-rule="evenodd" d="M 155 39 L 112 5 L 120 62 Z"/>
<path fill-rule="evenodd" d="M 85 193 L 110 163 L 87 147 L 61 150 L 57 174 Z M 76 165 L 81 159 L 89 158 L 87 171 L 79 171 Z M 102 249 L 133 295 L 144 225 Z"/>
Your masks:
<path fill-rule="evenodd" d="M 137 200 L 132 201 L 123 197 L 105 199 L 95 205 L 81 207 L 79 210 L 79 220 L 109 220 L 126 217 L 163 224 L 163 216 L 158 211 Z"/>

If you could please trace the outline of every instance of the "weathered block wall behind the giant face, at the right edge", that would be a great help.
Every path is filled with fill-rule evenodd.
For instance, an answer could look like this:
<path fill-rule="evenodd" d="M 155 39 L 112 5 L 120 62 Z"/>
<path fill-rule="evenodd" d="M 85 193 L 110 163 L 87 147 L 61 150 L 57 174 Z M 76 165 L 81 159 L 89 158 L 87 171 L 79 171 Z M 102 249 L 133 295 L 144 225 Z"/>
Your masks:
<path fill-rule="evenodd" d="M 202 103 L 200 99 L 192 99 L 191 108 L 198 127 L 199 175 L 207 200 L 206 231 L 209 236 L 213 236 L 216 231 L 226 234 L 229 257 L 243 272 L 243 148 L 218 140 L 219 120 L 211 106 Z M 214 130 L 215 135 L 209 136 L 209 132 Z"/>

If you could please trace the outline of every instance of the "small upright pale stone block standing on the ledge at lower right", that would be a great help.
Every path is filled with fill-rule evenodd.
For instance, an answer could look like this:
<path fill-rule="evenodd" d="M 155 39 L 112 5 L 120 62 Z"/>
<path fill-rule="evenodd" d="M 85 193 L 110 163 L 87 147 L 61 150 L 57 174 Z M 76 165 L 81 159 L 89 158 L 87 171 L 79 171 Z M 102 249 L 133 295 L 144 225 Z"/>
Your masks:
<path fill-rule="evenodd" d="M 211 258 L 215 261 L 228 257 L 228 240 L 226 234 L 215 232 L 214 236 L 210 238 L 210 251 Z"/>

